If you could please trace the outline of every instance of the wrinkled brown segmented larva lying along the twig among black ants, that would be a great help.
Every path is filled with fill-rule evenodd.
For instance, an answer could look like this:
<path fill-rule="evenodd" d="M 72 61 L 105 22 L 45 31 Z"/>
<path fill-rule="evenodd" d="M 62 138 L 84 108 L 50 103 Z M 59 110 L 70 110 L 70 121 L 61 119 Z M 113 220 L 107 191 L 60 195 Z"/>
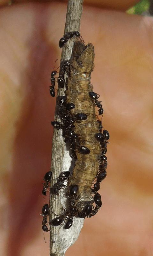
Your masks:
<path fill-rule="evenodd" d="M 77 133 L 81 146 L 90 149 L 90 153 L 82 155 L 76 151 L 77 161 L 69 179 L 69 186 L 79 186 L 75 207 L 82 211 L 85 205 L 93 203 L 91 186 L 98 174 L 98 165 L 101 153 L 100 143 L 96 140 L 95 134 L 99 132 L 96 122 L 94 100 L 89 96 L 93 91 L 90 83 L 91 72 L 94 68 L 94 47 L 92 44 L 84 46 L 80 41 L 74 44 L 74 50 L 70 61 L 70 72 L 68 73 L 68 88 L 66 93 L 67 103 L 75 104 L 71 113 L 85 113 L 87 119 L 82 122 L 75 122 L 74 131 Z M 78 171 L 79 170 L 79 171 Z"/>

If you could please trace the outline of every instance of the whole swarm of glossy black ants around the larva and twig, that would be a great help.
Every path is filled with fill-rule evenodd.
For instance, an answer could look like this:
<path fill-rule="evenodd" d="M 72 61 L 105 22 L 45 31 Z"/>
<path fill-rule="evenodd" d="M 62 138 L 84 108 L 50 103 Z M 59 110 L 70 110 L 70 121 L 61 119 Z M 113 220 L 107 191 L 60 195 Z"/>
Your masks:
<path fill-rule="evenodd" d="M 80 34 L 78 31 L 69 32 L 66 35 L 64 35 L 60 41 L 59 46 L 62 48 L 64 44 L 73 36 L 76 36 L 80 38 Z M 69 60 L 65 61 L 62 68 L 59 77 L 57 78 L 57 83 L 60 88 L 64 87 L 65 80 L 64 80 L 64 73 L 69 68 Z M 50 94 L 52 97 L 55 97 L 55 75 L 57 74 L 56 71 L 53 71 L 51 73 L 51 86 L 50 86 Z M 98 95 L 95 92 L 89 92 L 90 98 L 94 101 L 94 105 L 96 105 L 98 110 L 98 116 L 103 114 L 103 108 L 101 105 L 101 101 L 98 101 Z M 80 154 L 89 154 L 90 149 L 81 146 L 78 135 L 74 132 L 74 123 L 75 122 L 81 122 L 85 119 L 87 119 L 87 115 L 85 113 L 78 113 L 77 115 L 74 115 L 71 113 L 71 109 L 75 108 L 75 104 L 73 103 L 67 103 L 67 97 L 62 96 L 60 97 L 58 101 L 59 106 L 59 112 L 58 115 L 61 118 L 61 122 L 58 121 L 52 121 L 51 124 L 54 128 L 57 130 L 62 129 L 63 130 L 63 136 L 65 137 L 66 141 L 69 142 L 69 148 L 71 150 L 70 155 L 72 158 L 77 159 L 76 149 L 79 151 Z M 77 198 L 77 190 L 78 185 L 73 184 L 68 187 L 66 196 L 68 198 L 68 208 L 64 209 L 64 212 L 60 214 L 58 217 L 54 218 L 50 221 L 50 225 L 53 226 L 59 226 L 62 224 L 62 222 L 66 220 L 66 223 L 64 225 L 64 229 L 71 228 L 73 224 L 73 217 L 79 217 L 79 218 L 85 218 L 85 217 L 91 217 L 94 216 L 100 207 L 102 206 L 101 196 L 98 193 L 98 190 L 100 189 L 100 182 L 106 178 L 106 168 L 107 168 L 107 157 L 105 156 L 107 151 L 107 143 L 109 143 L 107 140 L 109 140 L 109 132 L 106 130 L 103 130 L 102 133 L 102 123 L 98 119 L 98 129 L 99 133 L 95 134 L 95 138 L 100 142 L 101 145 L 101 155 L 100 155 L 100 161 L 99 161 L 99 171 L 96 176 L 96 182 L 93 184 L 93 188 L 91 188 L 91 194 L 94 194 L 93 201 L 95 203 L 95 208 L 93 206 L 93 203 L 87 204 L 84 209 L 80 212 L 75 207 L 75 200 Z M 51 182 L 52 172 L 47 172 L 44 176 L 45 183 L 43 184 L 43 190 L 42 194 L 46 196 L 47 188 L 49 187 L 49 183 Z M 64 181 L 69 180 L 70 172 L 65 171 L 61 172 L 59 177 L 56 179 L 56 183 L 53 185 L 52 193 L 56 196 L 59 195 L 59 190 L 61 188 L 67 187 L 64 185 Z M 42 215 L 43 215 L 43 221 L 42 221 L 42 229 L 44 232 L 49 231 L 47 228 L 47 217 L 49 215 L 49 205 L 44 204 L 42 207 Z M 44 238 L 45 239 L 45 238 Z M 45 241 L 46 242 L 46 241 Z"/>

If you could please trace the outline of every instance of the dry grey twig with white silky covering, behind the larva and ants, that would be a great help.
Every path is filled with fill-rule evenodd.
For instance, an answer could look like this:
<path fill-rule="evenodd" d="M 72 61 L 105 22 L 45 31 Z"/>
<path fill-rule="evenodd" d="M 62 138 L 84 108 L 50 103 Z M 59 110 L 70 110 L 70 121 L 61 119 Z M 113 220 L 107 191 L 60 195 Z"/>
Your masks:
<path fill-rule="evenodd" d="M 67 15 L 64 34 L 69 31 L 79 31 L 80 21 L 82 14 L 83 0 L 68 0 Z M 62 37 L 62 35 L 61 35 Z M 61 63 L 64 60 L 69 60 L 72 54 L 72 48 L 74 40 L 69 40 L 66 46 L 62 47 Z M 62 66 L 62 64 L 60 65 Z M 57 92 L 56 103 L 59 100 L 59 96 L 63 96 L 64 88 L 59 88 Z M 55 109 L 55 121 L 60 121 L 57 114 L 58 106 Z M 51 159 L 51 171 L 53 173 L 53 179 L 56 179 L 62 171 L 70 171 L 72 166 L 72 158 L 69 156 L 69 151 L 66 148 L 64 138 L 62 136 L 62 129 L 54 129 L 53 141 L 52 141 L 52 159 Z M 51 187 L 55 180 L 51 183 Z M 52 189 L 51 189 L 52 192 Z M 61 191 L 60 196 L 55 196 L 50 193 L 50 221 L 56 218 L 58 214 L 64 211 L 66 197 L 64 192 Z M 60 226 L 53 227 L 50 225 L 50 256 L 57 255 L 63 256 L 67 248 L 74 244 L 83 226 L 84 219 L 74 218 L 73 225 L 70 229 L 65 230 Z"/>

